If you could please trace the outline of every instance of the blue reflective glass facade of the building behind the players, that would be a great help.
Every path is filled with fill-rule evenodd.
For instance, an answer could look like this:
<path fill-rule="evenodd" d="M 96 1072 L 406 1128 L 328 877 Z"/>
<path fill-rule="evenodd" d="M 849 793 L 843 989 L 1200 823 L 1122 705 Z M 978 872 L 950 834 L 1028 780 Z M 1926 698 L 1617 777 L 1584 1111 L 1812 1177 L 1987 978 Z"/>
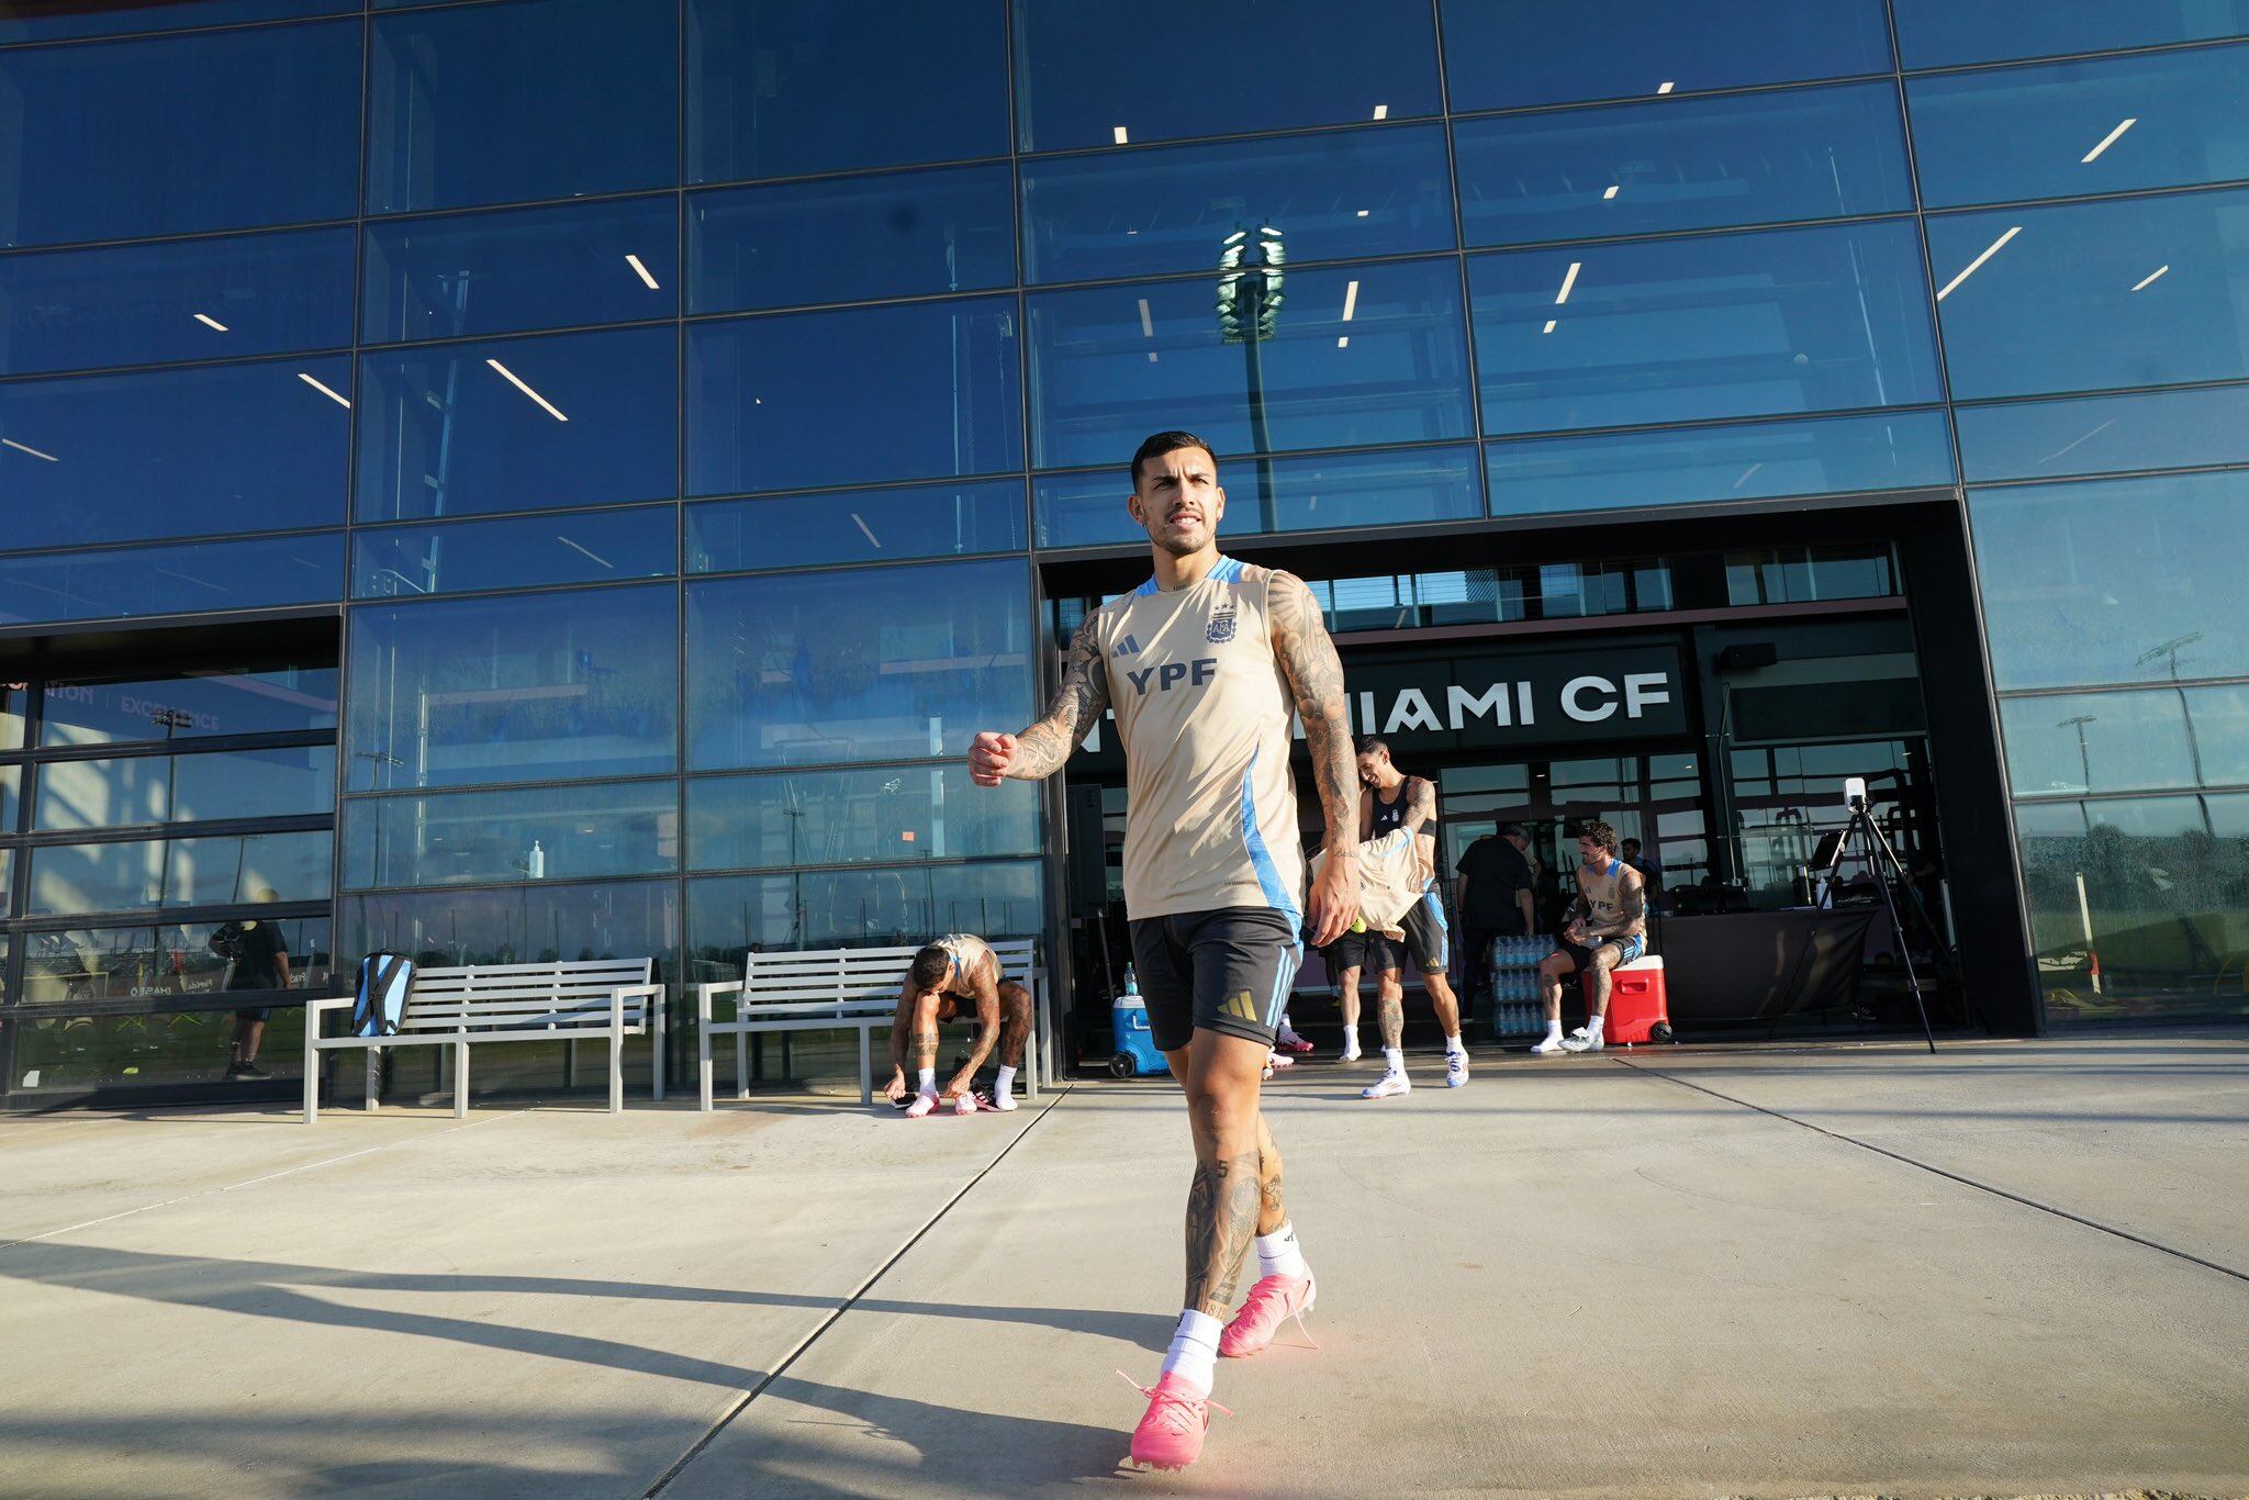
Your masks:
<path fill-rule="evenodd" d="M 1957 497 L 2049 1016 L 2249 1005 L 2236 0 L 1246 0 L 1255 90 L 1151 81 L 1183 0 L 0 11 L 0 634 L 342 614 L 0 684 L 11 1088 L 180 1077 L 103 1005 L 252 886 L 322 965 L 1048 931 L 947 762 L 1176 425 L 1232 535 Z"/>

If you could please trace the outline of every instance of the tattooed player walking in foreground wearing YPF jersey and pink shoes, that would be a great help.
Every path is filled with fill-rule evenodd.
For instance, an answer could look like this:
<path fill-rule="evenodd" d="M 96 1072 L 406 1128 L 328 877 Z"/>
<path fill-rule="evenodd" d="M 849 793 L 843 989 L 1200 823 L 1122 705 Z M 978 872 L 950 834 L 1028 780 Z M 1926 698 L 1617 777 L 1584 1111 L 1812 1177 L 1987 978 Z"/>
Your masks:
<path fill-rule="evenodd" d="M 1187 1295 L 1131 1437 L 1136 1464 L 1185 1469 L 1203 1451 L 1217 1358 L 1257 1354 L 1311 1309 L 1313 1280 L 1259 1111 L 1259 1073 L 1302 956 L 1358 906 L 1343 663 L 1293 576 L 1219 555 L 1226 490 L 1210 445 L 1160 432 L 1133 454 L 1133 522 L 1154 578 L 1077 627 L 1062 690 L 1021 735 L 981 733 L 969 774 L 1062 769 L 1102 708 L 1124 744 L 1124 913 L 1156 1046 L 1187 1093 Z M 1304 724 L 1329 859 L 1298 915 L 1302 850 L 1289 717 Z M 1244 1257 L 1257 1284 L 1226 1322 Z"/>

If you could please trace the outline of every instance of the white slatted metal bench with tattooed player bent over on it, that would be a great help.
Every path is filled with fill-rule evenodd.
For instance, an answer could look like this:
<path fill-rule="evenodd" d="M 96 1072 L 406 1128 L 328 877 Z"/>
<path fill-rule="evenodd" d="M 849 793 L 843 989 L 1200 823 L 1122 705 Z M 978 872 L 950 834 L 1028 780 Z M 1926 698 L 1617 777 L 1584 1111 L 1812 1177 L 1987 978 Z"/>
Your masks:
<path fill-rule="evenodd" d="M 695 985 L 702 1106 L 711 1109 L 711 1039 L 733 1037 L 735 1097 L 749 1097 L 749 1037 L 753 1032 L 859 1032 L 859 1102 L 875 1102 L 877 1028 L 897 1019 L 897 992 L 920 947 L 812 949 L 749 954 L 742 978 Z M 1039 1030 L 1046 1016 L 1046 972 L 1032 967 L 1032 940 L 994 942 L 1001 978 L 1030 990 L 1030 1037 L 1023 1041 L 1023 1091 L 1039 1097 Z M 713 1021 L 711 1001 L 735 996 L 733 1021 Z"/>

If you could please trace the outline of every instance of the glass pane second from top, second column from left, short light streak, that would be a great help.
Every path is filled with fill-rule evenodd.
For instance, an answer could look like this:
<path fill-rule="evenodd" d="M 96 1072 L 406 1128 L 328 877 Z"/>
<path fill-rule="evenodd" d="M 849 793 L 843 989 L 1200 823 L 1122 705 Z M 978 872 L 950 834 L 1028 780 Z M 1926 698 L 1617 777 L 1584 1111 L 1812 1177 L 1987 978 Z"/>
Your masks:
<path fill-rule="evenodd" d="M 367 340 L 625 324 L 679 310 L 679 200 L 367 225 Z"/>

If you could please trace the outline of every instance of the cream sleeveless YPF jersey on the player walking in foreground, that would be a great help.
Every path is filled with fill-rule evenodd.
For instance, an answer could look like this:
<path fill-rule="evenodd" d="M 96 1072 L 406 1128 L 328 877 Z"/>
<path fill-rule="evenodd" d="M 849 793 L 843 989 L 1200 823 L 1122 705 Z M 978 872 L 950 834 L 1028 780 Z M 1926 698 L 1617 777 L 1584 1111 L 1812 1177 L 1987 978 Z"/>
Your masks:
<path fill-rule="evenodd" d="M 1149 578 L 1093 612 L 1124 744 L 1124 915 L 1266 906 L 1302 927 L 1273 569 L 1219 558 L 1190 589 Z"/>

